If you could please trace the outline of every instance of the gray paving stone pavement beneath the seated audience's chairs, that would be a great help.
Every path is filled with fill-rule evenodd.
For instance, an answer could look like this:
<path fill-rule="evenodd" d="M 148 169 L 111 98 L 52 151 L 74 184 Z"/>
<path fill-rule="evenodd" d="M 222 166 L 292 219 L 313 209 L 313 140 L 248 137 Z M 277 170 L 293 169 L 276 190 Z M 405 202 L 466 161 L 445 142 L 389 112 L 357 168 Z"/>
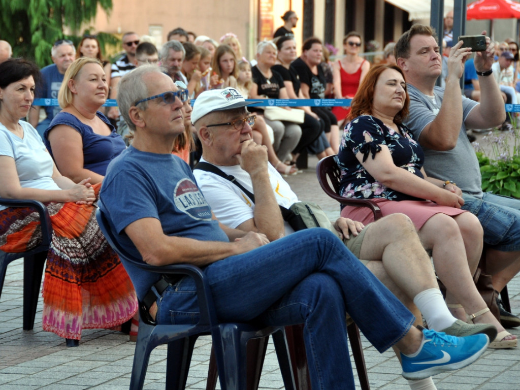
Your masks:
<path fill-rule="evenodd" d="M 319 203 L 335 219 L 339 206 L 328 198 L 315 175 L 316 158 L 309 158 L 304 173 L 287 178 L 302 200 Z M 7 268 L 0 298 L 0 389 L 1 390 L 123 390 L 130 382 L 135 344 L 128 336 L 109 330 L 85 330 L 80 346 L 68 348 L 63 339 L 42 330 L 42 300 L 38 303 L 34 329 L 22 330 L 23 265 L 18 260 Z M 508 284 L 512 311 L 520 313 L 520 277 Z M 381 321 L 384 326 L 384 320 Z M 520 338 L 520 330 L 510 330 Z M 392 351 L 379 354 L 362 337 L 370 386 L 373 390 L 409 388 L 400 375 L 400 365 Z M 327 341 L 324 341 L 327 342 Z M 188 389 L 205 389 L 211 340 L 200 337 L 194 350 Z M 151 355 L 144 388 L 165 387 L 166 348 Z M 357 375 L 354 370 L 356 378 Z M 435 377 L 439 390 L 518 390 L 520 389 L 520 347 L 488 349 L 473 365 Z M 269 344 L 259 388 L 282 389 L 283 382 L 272 344 Z"/>

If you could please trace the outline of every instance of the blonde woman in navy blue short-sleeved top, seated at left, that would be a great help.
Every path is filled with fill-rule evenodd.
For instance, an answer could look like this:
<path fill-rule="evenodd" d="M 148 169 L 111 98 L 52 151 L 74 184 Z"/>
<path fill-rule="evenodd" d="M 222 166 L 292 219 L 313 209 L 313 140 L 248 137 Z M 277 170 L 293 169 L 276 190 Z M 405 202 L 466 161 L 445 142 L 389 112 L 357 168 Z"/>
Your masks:
<path fill-rule="evenodd" d="M 50 122 L 44 140 L 58 170 L 73 181 L 100 183 L 108 164 L 125 143 L 99 109 L 108 97 L 105 71 L 98 59 L 81 57 L 69 66 L 58 92 L 62 110 Z"/>

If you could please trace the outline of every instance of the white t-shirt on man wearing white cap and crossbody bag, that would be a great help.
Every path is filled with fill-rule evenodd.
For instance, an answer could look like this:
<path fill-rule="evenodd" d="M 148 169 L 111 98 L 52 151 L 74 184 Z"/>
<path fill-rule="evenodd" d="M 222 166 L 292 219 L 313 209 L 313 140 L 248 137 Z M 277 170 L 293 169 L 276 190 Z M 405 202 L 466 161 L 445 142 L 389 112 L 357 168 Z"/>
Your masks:
<path fill-rule="evenodd" d="M 204 161 L 204 159 L 201 158 L 200 161 Z M 240 165 L 218 166 L 218 168 L 226 174 L 234 176 L 246 190 L 253 192 L 251 176 Z M 298 197 L 271 164 L 268 164 L 268 170 L 276 202 L 289 209 L 293 203 L 298 202 Z M 236 228 L 246 220 L 254 218 L 253 201 L 231 181 L 203 170 L 193 170 L 193 175 L 213 213 L 224 225 Z M 293 232 L 293 228 L 285 222 L 285 235 Z"/>

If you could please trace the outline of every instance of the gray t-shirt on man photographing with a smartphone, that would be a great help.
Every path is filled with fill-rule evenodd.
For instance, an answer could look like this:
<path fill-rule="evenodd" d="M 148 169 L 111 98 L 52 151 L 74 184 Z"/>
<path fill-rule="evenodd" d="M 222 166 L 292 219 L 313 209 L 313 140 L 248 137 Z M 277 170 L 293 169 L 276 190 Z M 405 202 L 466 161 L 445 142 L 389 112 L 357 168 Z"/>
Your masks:
<path fill-rule="evenodd" d="M 405 124 L 410 128 L 413 137 L 420 141 L 424 127 L 431 123 L 443 103 L 444 88 L 435 87 L 434 96 L 427 96 L 413 85 L 408 84 L 410 95 L 410 114 Z M 424 170 L 428 176 L 440 180 L 452 180 L 465 193 L 482 198 L 482 177 L 475 150 L 466 135 L 464 124 L 467 115 L 478 103 L 462 96 L 462 126 L 457 145 L 448 151 L 436 151 L 425 148 Z"/>

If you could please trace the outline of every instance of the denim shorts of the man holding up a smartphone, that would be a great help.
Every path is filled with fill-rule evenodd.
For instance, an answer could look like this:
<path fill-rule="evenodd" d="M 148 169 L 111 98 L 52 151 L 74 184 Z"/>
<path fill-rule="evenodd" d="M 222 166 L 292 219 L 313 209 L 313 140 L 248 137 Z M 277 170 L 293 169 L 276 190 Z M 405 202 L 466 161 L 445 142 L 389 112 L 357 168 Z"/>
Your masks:
<path fill-rule="evenodd" d="M 489 192 L 482 199 L 465 193 L 462 198 L 462 209 L 480 221 L 486 244 L 498 251 L 520 251 L 520 200 Z"/>

